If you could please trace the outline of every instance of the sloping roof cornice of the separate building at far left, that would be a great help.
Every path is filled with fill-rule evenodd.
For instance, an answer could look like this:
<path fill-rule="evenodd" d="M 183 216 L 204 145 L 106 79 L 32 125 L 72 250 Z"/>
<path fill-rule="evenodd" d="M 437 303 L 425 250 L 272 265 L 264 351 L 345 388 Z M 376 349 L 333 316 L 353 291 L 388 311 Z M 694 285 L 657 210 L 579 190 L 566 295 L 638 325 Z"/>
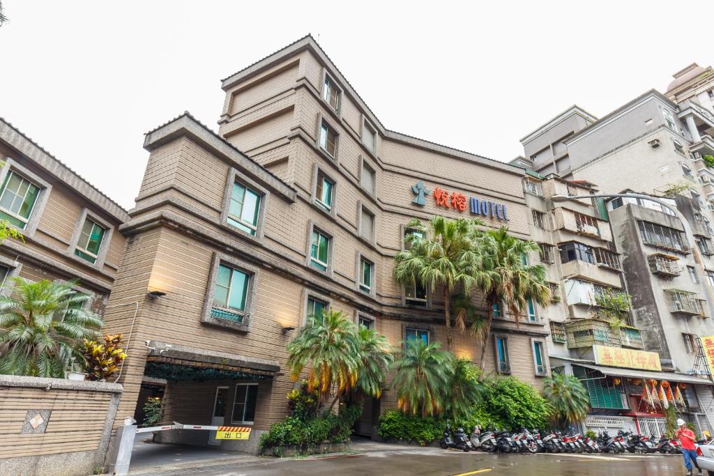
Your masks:
<path fill-rule="evenodd" d="M 44 150 L 38 143 L 19 131 L 18 128 L 0 118 L 0 141 L 7 143 L 11 148 L 16 149 L 21 154 L 29 158 L 37 166 L 50 173 L 65 186 L 71 188 L 81 196 L 101 208 L 105 213 L 116 219 L 119 223 L 129 220 L 129 213 L 122 208 L 119 203 L 106 196 L 99 188 L 82 178 L 79 173 L 73 171 L 69 166 L 59 161 L 48 151 Z"/>

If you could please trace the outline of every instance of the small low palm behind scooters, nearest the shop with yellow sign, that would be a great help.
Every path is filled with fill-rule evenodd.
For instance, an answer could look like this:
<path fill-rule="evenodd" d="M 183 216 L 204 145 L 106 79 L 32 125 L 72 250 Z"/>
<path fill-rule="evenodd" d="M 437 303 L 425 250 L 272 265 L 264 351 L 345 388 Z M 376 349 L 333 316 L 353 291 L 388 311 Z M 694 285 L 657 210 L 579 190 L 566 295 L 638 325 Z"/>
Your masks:
<path fill-rule="evenodd" d="M 543 380 L 543 397 L 555 409 L 558 424 L 577 423 L 585 420 L 590 408 L 590 397 L 583 383 L 575 375 L 553 373 Z"/>

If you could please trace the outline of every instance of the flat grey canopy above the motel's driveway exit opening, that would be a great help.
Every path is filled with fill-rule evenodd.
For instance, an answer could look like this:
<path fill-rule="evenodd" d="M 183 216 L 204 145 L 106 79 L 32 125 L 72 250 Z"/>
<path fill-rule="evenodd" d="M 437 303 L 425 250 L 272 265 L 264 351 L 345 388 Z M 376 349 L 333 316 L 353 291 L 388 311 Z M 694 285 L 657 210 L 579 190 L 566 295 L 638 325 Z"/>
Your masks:
<path fill-rule="evenodd" d="M 166 380 L 264 380 L 280 372 L 275 360 L 149 341 L 144 375 Z"/>

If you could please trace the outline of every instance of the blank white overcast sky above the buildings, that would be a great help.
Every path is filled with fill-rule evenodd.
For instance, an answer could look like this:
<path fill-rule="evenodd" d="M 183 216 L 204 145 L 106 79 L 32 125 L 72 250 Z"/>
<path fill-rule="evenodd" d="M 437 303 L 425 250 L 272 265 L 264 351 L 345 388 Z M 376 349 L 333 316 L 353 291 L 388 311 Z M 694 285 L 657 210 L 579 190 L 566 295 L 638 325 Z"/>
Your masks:
<path fill-rule="evenodd" d="M 215 130 L 219 80 L 308 33 L 387 128 L 500 161 L 714 64 L 710 1 L 494 3 L 2 0 L 0 116 L 131 208 L 146 131 Z"/>

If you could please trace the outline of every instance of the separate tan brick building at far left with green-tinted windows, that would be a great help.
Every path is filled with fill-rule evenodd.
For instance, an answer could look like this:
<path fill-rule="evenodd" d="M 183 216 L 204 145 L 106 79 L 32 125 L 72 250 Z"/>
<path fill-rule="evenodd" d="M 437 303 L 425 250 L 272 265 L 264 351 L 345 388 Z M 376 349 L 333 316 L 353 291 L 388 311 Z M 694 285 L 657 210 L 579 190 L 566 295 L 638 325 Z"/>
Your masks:
<path fill-rule="evenodd" d="M 104 313 L 124 252 L 116 231 L 129 215 L 71 168 L 0 118 L 0 219 L 24 236 L 0 245 L 0 286 L 9 278 L 79 280 Z"/>

